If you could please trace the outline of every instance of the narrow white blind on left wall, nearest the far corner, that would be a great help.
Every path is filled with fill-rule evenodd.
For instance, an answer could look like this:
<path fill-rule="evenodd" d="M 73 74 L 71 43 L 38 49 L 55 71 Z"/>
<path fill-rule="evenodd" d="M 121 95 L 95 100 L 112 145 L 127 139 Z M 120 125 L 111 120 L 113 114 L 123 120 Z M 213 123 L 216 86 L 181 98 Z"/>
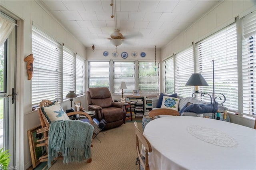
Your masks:
<path fill-rule="evenodd" d="M 85 61 L 76 55 L 76 95 L 83 95 L 85 92 Z"/>

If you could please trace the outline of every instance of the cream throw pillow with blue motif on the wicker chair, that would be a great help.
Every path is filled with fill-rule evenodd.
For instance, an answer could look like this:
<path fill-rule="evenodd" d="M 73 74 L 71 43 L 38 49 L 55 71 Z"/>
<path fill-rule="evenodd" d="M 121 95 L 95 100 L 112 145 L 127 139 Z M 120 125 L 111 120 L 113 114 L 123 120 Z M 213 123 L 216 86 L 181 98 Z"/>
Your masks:
<path fill-rule="evenodd" d="M 52 105 L 42 107 L 41 109 L 49 123 L 59 120 L 69 120 L 68 115 L 56 101 Z"/>

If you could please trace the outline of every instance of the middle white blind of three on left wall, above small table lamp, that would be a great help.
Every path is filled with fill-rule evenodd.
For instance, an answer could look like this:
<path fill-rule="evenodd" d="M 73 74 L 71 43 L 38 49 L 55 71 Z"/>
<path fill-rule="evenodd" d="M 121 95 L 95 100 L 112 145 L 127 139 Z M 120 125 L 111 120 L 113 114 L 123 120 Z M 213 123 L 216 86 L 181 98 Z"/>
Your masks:
<path fill-rule="evenodd" d="M 70 91 L 75 91 L 76 87 L 76 63 L 75 63 L 75 54 L 63 47 L 63 76 L 62 76 L 62 83 L 63 83 L 63 99 L 66 99 L 66 95 Z"/>

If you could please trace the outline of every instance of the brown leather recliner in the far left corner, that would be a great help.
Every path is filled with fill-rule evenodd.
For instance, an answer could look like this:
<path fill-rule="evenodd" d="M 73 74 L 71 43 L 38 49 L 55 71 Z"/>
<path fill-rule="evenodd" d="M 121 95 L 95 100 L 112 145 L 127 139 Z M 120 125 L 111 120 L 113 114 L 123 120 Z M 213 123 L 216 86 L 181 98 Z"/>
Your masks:
<path fill-rule="evenodd" d="M 105 119 L 104 130 L 119 127 L 126 120 L 124 103 L 112 102 L 112 96 L 107 87 L 94 87 L 86 91 L 88 108 L 96 112 L 98 121 Z"/>

